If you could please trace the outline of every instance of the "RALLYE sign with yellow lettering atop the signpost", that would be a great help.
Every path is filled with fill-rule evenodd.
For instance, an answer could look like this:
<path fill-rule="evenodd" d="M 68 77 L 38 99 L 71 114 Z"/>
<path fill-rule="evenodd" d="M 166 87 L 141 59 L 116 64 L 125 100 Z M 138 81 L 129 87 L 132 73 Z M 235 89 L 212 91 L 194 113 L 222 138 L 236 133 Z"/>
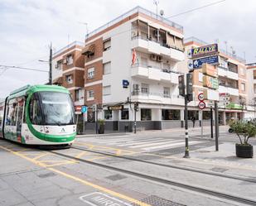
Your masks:
<path fill-rule="evenodd" d="M 187 56 L 188 58 L 196 59 L 207 55 L 216 55 L 218 51 L 218 44 L 212 44 L 188 50 Z"/>

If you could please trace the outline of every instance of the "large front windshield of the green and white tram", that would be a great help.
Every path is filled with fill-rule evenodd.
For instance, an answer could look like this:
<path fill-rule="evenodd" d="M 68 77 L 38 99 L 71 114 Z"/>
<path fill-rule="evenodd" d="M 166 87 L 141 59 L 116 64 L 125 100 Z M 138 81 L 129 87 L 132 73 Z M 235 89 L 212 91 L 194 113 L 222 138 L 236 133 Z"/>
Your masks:
<path fill-rule="evenodd" d="M 75 113 L 69 93 L 40 92 L 46 125 L 75 124 Z"/>

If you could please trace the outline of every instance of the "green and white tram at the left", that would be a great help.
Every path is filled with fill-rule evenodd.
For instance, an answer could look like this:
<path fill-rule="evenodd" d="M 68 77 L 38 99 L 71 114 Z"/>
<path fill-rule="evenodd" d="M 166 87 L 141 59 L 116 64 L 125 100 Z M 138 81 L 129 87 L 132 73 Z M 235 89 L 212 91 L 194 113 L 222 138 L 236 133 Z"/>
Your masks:
<path fill-rule="evenodd" d="M 0 137 L 28 145 L 70 145 L 74 104 L 64 87 L 27 85 L 0 103 Z"/>

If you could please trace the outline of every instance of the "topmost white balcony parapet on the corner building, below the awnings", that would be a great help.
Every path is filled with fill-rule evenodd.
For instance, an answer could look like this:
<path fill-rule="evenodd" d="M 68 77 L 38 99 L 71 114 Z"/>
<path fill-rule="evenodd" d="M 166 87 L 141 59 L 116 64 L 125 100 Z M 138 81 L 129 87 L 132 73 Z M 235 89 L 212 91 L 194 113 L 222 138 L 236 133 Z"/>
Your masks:
<path fill-rule="evenodd" d="M 184 60 L 184 51 L 178 48 L 171 48 L 163 43 L 151 41 L 147 37 L 133 36 L 132 48 L 138 48 L 142 52 L 154 53 L 157 55 L 164 55 L 174 61 Z"/>

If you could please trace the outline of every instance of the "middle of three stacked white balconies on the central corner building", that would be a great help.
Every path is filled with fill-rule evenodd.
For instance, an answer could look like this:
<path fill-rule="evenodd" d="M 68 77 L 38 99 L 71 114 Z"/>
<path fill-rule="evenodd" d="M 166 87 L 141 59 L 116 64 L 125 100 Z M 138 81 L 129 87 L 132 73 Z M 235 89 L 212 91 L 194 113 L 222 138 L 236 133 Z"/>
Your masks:
<path fill-rule="evenodd" d="M 132 68 L 131 76 L 178 84 L 179 73 L 168 69 L 152 68 L 147 65 L 135 64 Z"/>

